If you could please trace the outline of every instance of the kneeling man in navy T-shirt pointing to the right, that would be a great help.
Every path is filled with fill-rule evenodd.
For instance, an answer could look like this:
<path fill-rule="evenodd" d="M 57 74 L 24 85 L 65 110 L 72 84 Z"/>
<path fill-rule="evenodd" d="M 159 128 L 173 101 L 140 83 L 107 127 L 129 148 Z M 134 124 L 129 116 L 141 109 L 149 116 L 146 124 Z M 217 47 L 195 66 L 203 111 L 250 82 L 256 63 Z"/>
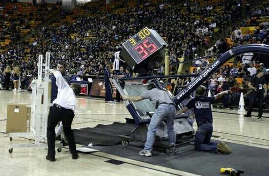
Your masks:
<path fill-rule="evenodd" d="M 205 97 L 206 87 L 199 86 L 196 90 L 196 97 L 189 101 L 185 107 L 177 112 L 177 115 L 186 112 L 188 109 L 194 108 L 194 114 L 198 129 L 195 133 L 194 147 L 200 151 L 222 152 L 230 154 L 231 148 L 227 144 L 220 142 L 210 142 L 213 132 L 213 118 L 211 104 L 228 94 L 230 91 L 223 91 L 213 97 Z"/>

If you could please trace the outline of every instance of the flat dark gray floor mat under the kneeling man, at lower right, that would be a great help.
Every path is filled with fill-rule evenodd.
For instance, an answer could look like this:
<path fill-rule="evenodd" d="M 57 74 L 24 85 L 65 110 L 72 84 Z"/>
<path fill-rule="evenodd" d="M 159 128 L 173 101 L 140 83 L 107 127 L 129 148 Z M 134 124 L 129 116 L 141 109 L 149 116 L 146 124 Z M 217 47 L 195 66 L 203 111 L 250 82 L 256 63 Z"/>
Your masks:
<path fill-rule="evenodd" d="M 194 150 L 193 145 L 180 148 L 181 152 L 167 155 L 164 152 L 153 151 L 152 157 L 138 155 L 143 148 L 142 143 L 131 142 L 130 146 L 95 146 L 94 149 L 116 156 L 137 161 L 164 166 L 202 176 L 224 176 L 220 168 L 234 168 L 244 170 L 242 176 L 269 176 L 269 150 L 249 147 L 239 144 L 229 144 L 233 153 L 225 155 Z"/>

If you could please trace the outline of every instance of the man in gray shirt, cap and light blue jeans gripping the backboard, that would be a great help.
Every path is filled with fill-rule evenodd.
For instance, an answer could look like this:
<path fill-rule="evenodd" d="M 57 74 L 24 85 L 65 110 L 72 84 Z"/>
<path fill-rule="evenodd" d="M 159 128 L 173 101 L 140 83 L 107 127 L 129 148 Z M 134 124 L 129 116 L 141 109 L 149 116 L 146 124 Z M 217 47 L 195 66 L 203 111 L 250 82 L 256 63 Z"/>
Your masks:
<path fill-rule="evenodd" d="M 176 115 L 176 106 L 171 100 L 167 92 L 159 90 L 154 84 L 148 85 L 148 91 L 140 96 L 123 96 L 123 100 L 141 101 L 150 99 L 152 102 L 159 102 L 159 106 L 155 110 L 150 125 L 148 126 L 147 141 L 145 147 L 139 152 L 140 155 L 151 156 L 152 148 L 155 140 L 155 132 L 163 119 L 166 119 L 168 129 L 168 140 L 171 145 L 176 143 L 176 132 L 174 130 L 174 119 Z"/>

